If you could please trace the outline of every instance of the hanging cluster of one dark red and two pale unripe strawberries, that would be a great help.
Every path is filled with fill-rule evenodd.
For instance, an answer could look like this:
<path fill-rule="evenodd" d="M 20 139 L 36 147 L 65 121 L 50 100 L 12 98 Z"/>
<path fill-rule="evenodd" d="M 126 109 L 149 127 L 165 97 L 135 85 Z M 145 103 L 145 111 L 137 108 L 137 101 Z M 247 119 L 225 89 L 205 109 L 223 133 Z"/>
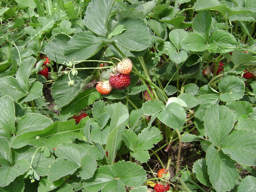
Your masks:
<path fill-rule="evenodd" d="M 116 65 L 116 73 L 111 74 L 111 77 L 107 81 L 100 81 L 96 85 L 96 90 L 102 95 L 108 95 L 111 90 L 125 89 L 131 83 L 132 62 L 129 58 L 123 59 Z"/>

